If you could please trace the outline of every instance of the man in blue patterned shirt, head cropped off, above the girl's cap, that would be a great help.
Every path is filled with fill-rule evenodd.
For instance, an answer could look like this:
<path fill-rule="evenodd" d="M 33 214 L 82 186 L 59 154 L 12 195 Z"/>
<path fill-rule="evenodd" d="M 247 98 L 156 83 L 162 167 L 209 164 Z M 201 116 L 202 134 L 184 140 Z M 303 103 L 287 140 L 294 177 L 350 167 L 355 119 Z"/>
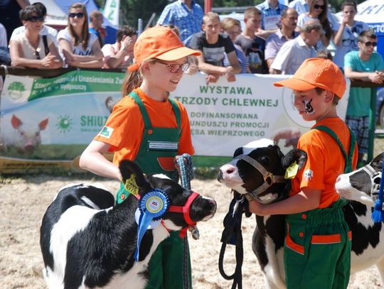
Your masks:
<path fill-rule="evenodd" d="M 178 0 L 165 6 L 157 24 L 174 25 L 180 31 L 184 45 L 188 45 L 194 33 L 201 31 L 203 9 L 194 0 Z"/>

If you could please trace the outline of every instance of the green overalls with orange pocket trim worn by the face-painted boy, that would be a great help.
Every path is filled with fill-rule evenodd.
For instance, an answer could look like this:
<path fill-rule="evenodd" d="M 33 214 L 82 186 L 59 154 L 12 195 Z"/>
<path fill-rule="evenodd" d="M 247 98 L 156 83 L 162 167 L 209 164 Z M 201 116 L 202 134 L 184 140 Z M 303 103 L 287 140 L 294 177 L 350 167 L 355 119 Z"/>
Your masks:
<path fill-rule="evenodd" d="M 329 133 L 340 146 L 346 159 L 344 173 L 352 171 L 356 138 L 351 133 L 351 148 L 346 154 L 334 131 L 316 126 Z M 347 288 L 351 272 L 351 231 L 344 219 L 340 199 L 330 207 L 299 214 L 288 214 L 284 244 L 285 283 L 288 289 Z"/>

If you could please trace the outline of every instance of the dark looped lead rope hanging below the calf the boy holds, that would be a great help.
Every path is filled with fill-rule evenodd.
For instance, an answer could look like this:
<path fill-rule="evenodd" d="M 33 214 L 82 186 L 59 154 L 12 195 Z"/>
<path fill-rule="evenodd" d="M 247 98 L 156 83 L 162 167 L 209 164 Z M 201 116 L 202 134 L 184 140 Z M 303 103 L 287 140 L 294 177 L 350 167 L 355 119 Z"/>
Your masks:
<path fill-rule="evenodd" d="M 228 213 L 225 215 L 223 224 L 224 230 L 221 235 L 221 249 L 218 261 L 218 267 L 221 276 L 225 280 L 233 280 L 232 289 L 236 287 L 242 289 L 242 261 L 244 256 L 244 249 L 242 248 L 242 232 L 241 232 L 241 220 L 242 212 L 247 208 L 247 201 L 244 196 L 236 193 L 233 195 L 233 200 L 230 202 Z M 235 245 L 235 257 L 236 266 L 235 272 L 228 276 L 223 267 L 224 254 L 227 244 Z"/>

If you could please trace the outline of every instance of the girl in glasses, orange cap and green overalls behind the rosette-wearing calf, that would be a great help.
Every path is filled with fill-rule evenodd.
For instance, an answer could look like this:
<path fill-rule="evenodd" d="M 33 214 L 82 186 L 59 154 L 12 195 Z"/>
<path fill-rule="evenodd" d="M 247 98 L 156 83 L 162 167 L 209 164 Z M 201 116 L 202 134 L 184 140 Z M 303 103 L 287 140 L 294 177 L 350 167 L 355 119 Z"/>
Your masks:
<path fill-rule="evenodd" d="M 194 152 L 186 109 L 169 99 L 188 69 L 188 55 L 201 53 L 184 47 L 169 28 L 156 26 L 139 36 L 134 45 L 136 63 L 128 67 L 123 83 L 124 97 L 82 153 L 81 168 L 120 181 L 117 165 L 129 159 L 144 173 L 175 177 L 176 155 Z M 113 163 L 102 155 L 107 151 L 114 152 Z M 117 203 L 127 194 L 121 184 Z M 183 246 L 177 231 L 160 244 L 149 263 L 147 288 L 191 288 L 191 266 L 189 258 L 183 258 Z M 189 280 L 183 280 L 185 270 Z"/>

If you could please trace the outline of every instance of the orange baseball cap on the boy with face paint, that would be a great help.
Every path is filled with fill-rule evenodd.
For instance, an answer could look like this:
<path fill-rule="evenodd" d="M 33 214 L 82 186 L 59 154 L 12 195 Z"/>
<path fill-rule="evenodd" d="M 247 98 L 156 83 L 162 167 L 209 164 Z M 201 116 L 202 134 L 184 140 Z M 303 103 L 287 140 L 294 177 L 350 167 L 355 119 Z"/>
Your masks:
<path fill-rule="evenodd" d="M 319 87 L 334 92 L 341 99 L 346 91 L 346 79 L 334 62 L 324 58 L 308 58 L 292 78 L 274 82 L 275 87 L 305 91 Z"/>

